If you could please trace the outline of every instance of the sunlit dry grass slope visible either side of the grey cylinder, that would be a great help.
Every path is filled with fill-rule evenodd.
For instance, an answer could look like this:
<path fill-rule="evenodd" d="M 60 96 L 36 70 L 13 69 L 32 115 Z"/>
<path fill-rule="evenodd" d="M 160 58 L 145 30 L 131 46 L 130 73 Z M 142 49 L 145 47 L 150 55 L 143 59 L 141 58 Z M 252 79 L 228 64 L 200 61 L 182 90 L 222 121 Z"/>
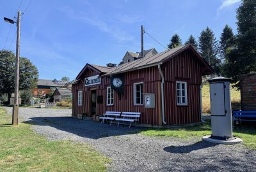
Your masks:
<path fill-rule="evenodd" d="M 240 90 L 233 89 L 230 87 L 230 97 L 232 110 L 241 108 L 241 95 Z M 202 87 L 202 110 L 203 113 L 211 113 L 211 101 L 210 101 L 210 85 L 205 83 Z"/>

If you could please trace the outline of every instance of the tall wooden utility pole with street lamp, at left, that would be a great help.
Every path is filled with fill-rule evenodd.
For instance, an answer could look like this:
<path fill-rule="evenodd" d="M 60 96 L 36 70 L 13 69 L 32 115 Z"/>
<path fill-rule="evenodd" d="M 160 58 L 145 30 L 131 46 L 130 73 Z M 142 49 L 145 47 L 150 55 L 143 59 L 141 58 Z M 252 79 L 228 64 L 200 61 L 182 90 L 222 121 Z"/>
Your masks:
<path fill-rule="evenodd" d="M 15 61 L 15 91 L 14 105 L 12 111 L 12 124 L 19 124 L 19 66 L 20 66 L 20 11 L 17 18 L 17 40 L 16 40 L 16 61 Z"/>

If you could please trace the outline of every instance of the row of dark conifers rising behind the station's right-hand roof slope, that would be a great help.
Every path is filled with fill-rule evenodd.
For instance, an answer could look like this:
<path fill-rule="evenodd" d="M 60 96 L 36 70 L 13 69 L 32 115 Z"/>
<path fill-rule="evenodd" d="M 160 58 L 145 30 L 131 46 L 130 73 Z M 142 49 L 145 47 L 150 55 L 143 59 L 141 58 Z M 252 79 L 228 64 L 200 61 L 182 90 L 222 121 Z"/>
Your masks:
<path fill-rule="evenodd" d="M 236 10 L 237 34 L 225 25 L 220 40 L 206 27 L 200 32 L 198 41 L 191 35 L 185 45 L 195 47 L 215 73 L 232 78 L 239 89 L 239 75 L 256 72 L 256 0 L 243 0 Z M 168 48 L 182 45 L 178 34 L 170 39 Z"/>

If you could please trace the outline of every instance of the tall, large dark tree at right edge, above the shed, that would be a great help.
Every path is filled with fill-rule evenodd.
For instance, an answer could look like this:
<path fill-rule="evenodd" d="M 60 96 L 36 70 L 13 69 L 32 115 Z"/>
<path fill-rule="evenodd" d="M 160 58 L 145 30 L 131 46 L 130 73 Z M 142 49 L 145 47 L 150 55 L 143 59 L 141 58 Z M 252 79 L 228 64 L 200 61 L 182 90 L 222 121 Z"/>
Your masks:
<path fill-rule="evenodd" d="M 225 76 L 239 89 L 239 75 L 256 72 L 256 1 L 243 0 L 237 8 L 237 36 L 227 53 Z"/>

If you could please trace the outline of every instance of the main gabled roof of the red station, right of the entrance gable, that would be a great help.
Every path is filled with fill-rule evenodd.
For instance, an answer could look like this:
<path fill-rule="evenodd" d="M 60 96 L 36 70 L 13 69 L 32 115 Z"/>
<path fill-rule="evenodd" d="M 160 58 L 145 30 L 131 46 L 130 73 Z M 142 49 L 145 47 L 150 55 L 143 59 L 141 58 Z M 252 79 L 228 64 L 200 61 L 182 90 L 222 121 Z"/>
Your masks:
<path fill-rule="evenodd" d="M 204 58 L 201 57 L 200 54 L 198 54 L 198 52 L 196 52 L 195 48 L 193 48 L 191 45 L 181 45 L 180 47 L 166 50 L 159 54 L 146 56 L 146 57 L 138 59 L 136 61 L 131 61 L 131 62 L 121 64 L 120 66 L 116 66 L 116 68 L 109 69 L 109 72 L 106 73 L 105 75 L 125 73 L 127 71 L 133 71 L 136 69 L 157 66 L 157 64 L 159 64 L 161 62 L 168 61 L 170 58 L 172 58 L 175 55 L 180 54 L 184 50 L 188 50 L 188 49 L 192 50 L 195 53 L 195 56 L 198 59 L 198 61 L 200 61 L 207 68 L 207 71 L 209 73 L 213 72 L 213 69 L 211 68 L 211 66 L 209 66 L 209 64 L 204 60 Z"/>

